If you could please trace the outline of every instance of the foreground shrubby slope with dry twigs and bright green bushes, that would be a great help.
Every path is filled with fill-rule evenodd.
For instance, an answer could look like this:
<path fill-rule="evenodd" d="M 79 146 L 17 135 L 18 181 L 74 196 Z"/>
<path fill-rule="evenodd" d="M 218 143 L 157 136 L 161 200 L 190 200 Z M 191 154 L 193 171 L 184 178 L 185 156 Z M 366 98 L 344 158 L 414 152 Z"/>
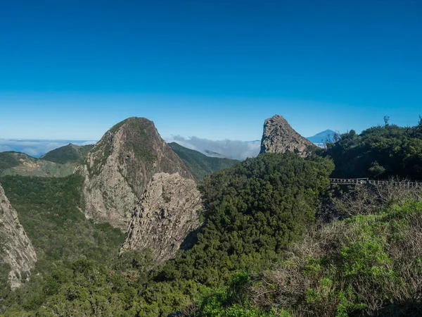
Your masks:
<path fill-rule="evenodd" d="M 393 201 L 310 229 L 271 268 L 201 297 L 191 316 L 421 316 L 422 202 Z"/>

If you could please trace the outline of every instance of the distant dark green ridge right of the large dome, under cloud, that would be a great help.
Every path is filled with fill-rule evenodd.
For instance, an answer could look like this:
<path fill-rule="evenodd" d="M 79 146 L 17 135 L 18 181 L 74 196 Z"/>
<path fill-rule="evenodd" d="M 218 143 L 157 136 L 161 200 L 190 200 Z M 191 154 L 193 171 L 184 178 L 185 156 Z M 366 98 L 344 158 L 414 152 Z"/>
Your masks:
<path fill-rule="evenodd" d="M 197 181 L 202 180 L 206 175 L 217 172 L 217 170 L 229 168 L 238 162 L 232 159 L 206 156 L 198 151 L 182 147 L 176 142 L 169 143 L 169 147 L 184 161 L 189 172 Z"/>

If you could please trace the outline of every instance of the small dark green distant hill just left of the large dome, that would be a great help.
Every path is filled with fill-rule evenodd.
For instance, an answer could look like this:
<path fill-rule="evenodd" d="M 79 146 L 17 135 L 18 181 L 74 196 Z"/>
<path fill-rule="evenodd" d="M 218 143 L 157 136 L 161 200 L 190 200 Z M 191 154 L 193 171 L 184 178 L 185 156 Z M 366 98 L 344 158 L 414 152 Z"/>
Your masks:
<path fill-rule="evenodd" d="M 88 152 L 91 151 L 93 147 L 94 144 L 79 146 L 70 143 L 65 145 L 65 147 L 59 147 L 58 149 L 49 151 L 39 159 L 61 164 L 79 163 L 87 157 Z"/>

